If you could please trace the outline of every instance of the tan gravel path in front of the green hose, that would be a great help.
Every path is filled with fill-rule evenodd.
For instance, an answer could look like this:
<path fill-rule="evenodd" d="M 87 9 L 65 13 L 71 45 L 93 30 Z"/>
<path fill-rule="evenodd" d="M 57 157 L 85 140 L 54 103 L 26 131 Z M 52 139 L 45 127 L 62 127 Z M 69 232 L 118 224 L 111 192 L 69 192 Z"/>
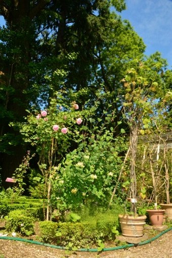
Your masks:
<path fill-rule="evenodd" d="M 0 258 L 172 258 L 172 230 L 156 240 L 128 249 L 97 252 L 67 252 L 30 243 L 0 239 Z"/>

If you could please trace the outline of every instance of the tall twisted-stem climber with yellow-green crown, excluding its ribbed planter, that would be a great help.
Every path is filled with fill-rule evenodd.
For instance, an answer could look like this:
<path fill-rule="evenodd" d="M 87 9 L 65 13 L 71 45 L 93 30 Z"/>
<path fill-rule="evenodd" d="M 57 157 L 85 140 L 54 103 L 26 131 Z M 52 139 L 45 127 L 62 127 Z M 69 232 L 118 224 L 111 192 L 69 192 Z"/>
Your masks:
<path fill-rule="evenodd" d="M 132 217 L 137 219 L 136 154 L 138 136 L 139 134 L 146 135 L 151 132 L 151 128 L 153 127 L 152 117 L 156 116 L 159 106 L 162 106 L 161 103 L 164 105 L 166 93 L 162 90 L 163 80 L 159 74 L 159 71 L 163 67 L 163 62 L 157 64 L 157 61 L 152 56 L 145 62 L 138 62 L 137 60 L 135 64 L 133 62 L 133 65 L 135 68 L 128 70 L 122 79 L 123 88 L 121 89 L 121 95 L 123 98 L 121 102 L 123 118 L 130 130 L 131 211 L 133 214 Z M 131 219 L 133 220 L 130 216 L 125 215 L 122 217 L 126 217 L 126 224 Z M 146 219 L 146 216 L 143 216 L 144 219 Z M 123 222 L 121 222 L 120 215 L 119 220 L 122 225 Z"/>

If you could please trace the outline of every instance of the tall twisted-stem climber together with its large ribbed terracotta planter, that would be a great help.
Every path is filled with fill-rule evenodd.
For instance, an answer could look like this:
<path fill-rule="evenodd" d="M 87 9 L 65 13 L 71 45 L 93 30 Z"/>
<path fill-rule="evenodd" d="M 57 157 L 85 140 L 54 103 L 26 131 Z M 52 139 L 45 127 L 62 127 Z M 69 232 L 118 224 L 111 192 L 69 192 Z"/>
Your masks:
<path fill-rule="evenodd" d="M 126 91 L 123 102 L 123 118 L 130 129 L 130 200 L 131 214 L 119 215 L 122 235 L 139 237 L 143 236 L 146 216 L 137 214 L 137 178 L 136 178 L 136 154 L 138 145 L 138 135 L 143 124 L 146 122 L 146 116 L 150 109 L 150 104 L 145 96 L 145 78 L 138 75 L 140 68 L 131 69 L 124 77 L 123 85 Z"/>

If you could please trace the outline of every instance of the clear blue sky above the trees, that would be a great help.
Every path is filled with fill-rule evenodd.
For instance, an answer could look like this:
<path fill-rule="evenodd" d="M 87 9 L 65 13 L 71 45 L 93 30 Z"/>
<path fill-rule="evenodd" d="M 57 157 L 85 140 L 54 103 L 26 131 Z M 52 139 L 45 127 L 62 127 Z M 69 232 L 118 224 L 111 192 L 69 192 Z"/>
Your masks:
<path fill-rule="evenodd" d="M 120 15 L 131 22 L 146 44 L 146 55 L 159 51 L 172 69 L 172 0 L 126 0 Z M 0 25 L 4 21 L 0 17 Z"/>

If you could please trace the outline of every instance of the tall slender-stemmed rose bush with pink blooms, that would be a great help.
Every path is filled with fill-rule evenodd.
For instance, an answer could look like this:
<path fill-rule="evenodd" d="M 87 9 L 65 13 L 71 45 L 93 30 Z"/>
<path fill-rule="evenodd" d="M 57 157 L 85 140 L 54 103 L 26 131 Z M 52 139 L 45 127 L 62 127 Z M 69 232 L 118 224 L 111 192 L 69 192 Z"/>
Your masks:
<path fill-rule="evenodd" d="M 38 154 L 38 166 L 44 177 L 48 195 L 47 220 L 50 217 L 54 168 L 60 164 L 66 153 L 70 152 L 71 145 L 77 145 L 80 141 L 78 126 L 82 123 L 81 117 L 84 117 L 87 123 L 92 115 L 87 110 L 79 111 L 76 103 L 74 106 L 65 105 L 62 99 L 62 94 L 56 93 L 56 98 L 51 99 L 47 110 L 29 112 L 25 118 L 26 122 L 19 125 L 24 141 L 31 144 Z"/>

